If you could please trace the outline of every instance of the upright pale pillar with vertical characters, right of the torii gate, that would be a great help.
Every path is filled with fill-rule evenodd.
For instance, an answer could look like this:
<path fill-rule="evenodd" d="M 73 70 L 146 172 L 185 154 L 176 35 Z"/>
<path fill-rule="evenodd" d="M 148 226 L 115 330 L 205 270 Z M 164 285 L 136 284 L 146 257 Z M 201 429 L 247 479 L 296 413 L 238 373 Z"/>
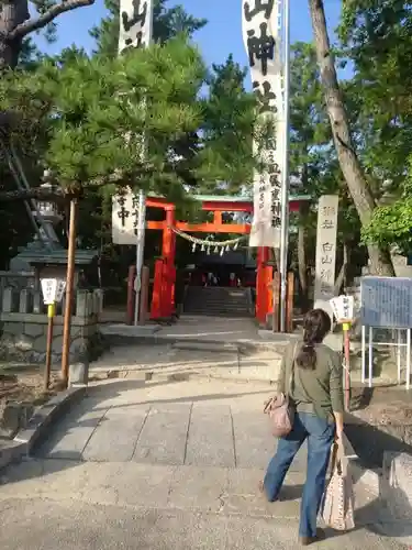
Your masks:
<path fill-rule="evenodd" d="M 338 202 L 337 195 L 322 195 L 318 209 L 314 307 L 329 312 L 335 286 Z"/>

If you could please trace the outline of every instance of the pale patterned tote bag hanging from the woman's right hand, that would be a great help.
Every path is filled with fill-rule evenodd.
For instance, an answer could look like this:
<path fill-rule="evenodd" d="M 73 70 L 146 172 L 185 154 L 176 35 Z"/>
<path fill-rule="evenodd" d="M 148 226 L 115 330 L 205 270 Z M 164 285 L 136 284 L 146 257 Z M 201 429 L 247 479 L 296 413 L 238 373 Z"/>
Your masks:
<path fill-rule="evenodd" d="M 355 527 L 354 487 L 341 442 L 334 443 L 331 462 L 332 476 L 323 497 L 322 517 L 332 529 L 348 531 Z"/>

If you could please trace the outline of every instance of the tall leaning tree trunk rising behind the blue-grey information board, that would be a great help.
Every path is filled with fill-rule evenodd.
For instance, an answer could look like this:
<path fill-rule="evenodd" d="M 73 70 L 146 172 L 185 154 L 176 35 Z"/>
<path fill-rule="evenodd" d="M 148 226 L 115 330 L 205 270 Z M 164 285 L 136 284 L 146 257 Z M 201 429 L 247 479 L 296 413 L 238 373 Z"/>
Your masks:
<path fill-rule="evenodd" d="M 331 120 L 339 166 L 360 222 L 366 226 L 371 219 L 376 204 L 352 141 L 349 122 L 331 52 L 323 0 L 309 0 L 309 7 L 327 114 Z M 371 273 L 394 276 L 392 261 L 387 249 L 368 245 L 368 253 Z"/>

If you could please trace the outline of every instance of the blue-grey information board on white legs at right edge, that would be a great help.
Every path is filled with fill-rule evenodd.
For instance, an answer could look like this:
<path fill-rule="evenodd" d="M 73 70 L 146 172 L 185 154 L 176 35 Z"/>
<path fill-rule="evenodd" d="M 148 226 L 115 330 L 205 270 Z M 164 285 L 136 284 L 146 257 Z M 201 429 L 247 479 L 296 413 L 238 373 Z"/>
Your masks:
<path fill-rule="evenodd" d="M 412 328 L 412 278 L 363 277 L 360 320 L 365 327 Z"/>

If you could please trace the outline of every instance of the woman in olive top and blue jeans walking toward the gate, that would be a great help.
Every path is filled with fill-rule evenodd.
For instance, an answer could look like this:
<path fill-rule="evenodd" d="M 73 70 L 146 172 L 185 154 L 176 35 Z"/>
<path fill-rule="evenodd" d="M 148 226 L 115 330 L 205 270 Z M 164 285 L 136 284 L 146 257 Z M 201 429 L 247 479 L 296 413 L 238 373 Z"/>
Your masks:
<path fill-rule="evenodd" d="M 289 466 L 308 439 L 308 471 L 303 488 L 299 537 L 303 546 L 324 538 L 316 518 L 334 437 L 343 436 L 343 369 L 336 352 L 322 343 L 331 330 L 330 316 L 312 309 L 303 321 L 303 342 L 291 343 L 283 355 L 279 392 L 289 393 L 296 406 L 292 431 L 280 438 L 263 491 L 277 501 Z M 290 386 L 290 389 L 289 389 Z"/>

